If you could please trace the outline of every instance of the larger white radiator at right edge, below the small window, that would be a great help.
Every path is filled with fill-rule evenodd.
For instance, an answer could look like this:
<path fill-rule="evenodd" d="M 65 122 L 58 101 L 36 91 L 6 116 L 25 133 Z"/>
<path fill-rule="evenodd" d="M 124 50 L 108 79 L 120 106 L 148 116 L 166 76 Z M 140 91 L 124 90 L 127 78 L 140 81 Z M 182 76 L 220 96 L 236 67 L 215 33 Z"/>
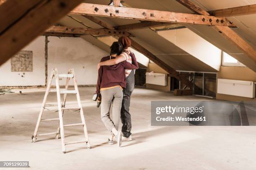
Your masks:
<path fill-rule="evenodd" d="M 219 94 L 241 97 L 255 97 L 255 84 L 252 81 L 229 80 L 218 78 Z"/>

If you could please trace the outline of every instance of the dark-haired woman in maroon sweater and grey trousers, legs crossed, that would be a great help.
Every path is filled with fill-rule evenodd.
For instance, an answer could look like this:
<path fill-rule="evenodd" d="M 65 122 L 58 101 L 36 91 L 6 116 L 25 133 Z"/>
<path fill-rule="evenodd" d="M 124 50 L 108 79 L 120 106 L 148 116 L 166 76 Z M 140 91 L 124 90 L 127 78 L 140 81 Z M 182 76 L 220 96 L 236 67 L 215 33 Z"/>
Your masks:
<path fill-rule="evenodd" d="M 123 51 L 120 42 L 114 42 L 110 47 L 110 56 L 103 57 L 101 62 L 111 60 Z M 113 145 L 113 137 L 121 145 L 122 132 L 118 132 L 118 122 L 123 100 L 123 88 L 126 87 L 125 69 L 138 69 L 138 63 L 135 57 L 132 57 L 132 64 L 126 61 L 119 62 L 111 66 L 101 66 L 98 70 L 98 81 L 96 93 L 101 95 L 101 120 L 105 127 L 110 131 L 108 143 Z M 112 114 L 113 121 L 110 119 L 110 106 L 113 102 Z"/>

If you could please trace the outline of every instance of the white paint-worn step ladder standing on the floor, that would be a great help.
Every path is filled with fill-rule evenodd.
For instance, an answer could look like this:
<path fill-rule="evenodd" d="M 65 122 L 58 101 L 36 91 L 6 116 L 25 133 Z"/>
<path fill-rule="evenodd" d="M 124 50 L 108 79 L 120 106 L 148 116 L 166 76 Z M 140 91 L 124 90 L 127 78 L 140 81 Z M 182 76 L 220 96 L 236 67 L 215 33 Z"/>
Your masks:
<path fill-rule="evenodd" d="M 52 82 L 54 77 L 55 77 L 55 82 L 56 82 L 56 89 L 50 89 L 51 82 Z M 63 90 L 59 88 L 59 77 L 66 77 L 67 78 L 65 89 L 63 89 Z M 73 78 L 73 80 L 74 80 L 74 89 L 75 90 L 68 90 L 70 78 Z M 57 101 L 58 101 L 57 105 L 56 104 L 46 104 L 46 99 L 47 99 L 47 96 L 48 96 L 49 92 L 56 92 L 57 93 Z M 64 94 L 62 103 L 61 103 L 61 94 Z M 78 107 L 65 107 L 67 94 L 76 94 L 77 95 Z M 42 119 L 44 109 L 46 109 L 46 107 L 51 107 L 51 106 L 58 106 L 59 117 L 58 118 L 51 118 L 51 119 Z M 82 123 L 63 125 L 64 110 L 79 110 L 80 115 L 81 115 L 81 119 L 82 119 Z M 59 121 L 58 129 L 55 132 L 41 133 L 41 134 L 37 133 L 40 122 L 53 121 L 53 120 L 58 120 Z M 83 126 L 85 140 L 79 140 L 79 141 L 74 141 L 74 142 L 65 142 L 64 127 L 71 127 L 71 126 Z M 39 116 L 38 116 L 38 120 L 37 120 L 37 123 L 36 123 L 36 129 L 35 129 L 35 132 L 32 136 L 32 142 L 36 142 L 36 137 L 37 136 L 44 136 L 44 135 L 56 135 L 55 138 L 59 139 L 59 134 L 61 135 L 61 146 L 62 146 L 62 152 L 63 153 L 66 153 L 65 145 L 75 144 L 75 143 L 86 143 L 87 148 L 91 149 L 89 138 L 88 138 L 88 133 L 87 133 L 87 128 L 86 128 L 86 124 L 85 124 L 85 120 L 84 120 L 84 112 L 83 112 L 83 109 L 82 109 L 81 100 L 80 100 L 80 96 L 79 96 L 79 92 L 78 92 L 77 81 L 76 81 L 75 74 L 74 74 L 74 69 L 70 69 L 68 71 L 68 74 L 59 74 L 59 75 L 58 75 L 57 68 L 54 68 L 51 71 L 51 77 L 50 77 L 50 80 L 49 80 L 47 88 L 46 88 L 43 104 L 42 104 L 42 107 L 41 107 L 41 110 L 40 110 L 40 113 L 39 113 Z"/>

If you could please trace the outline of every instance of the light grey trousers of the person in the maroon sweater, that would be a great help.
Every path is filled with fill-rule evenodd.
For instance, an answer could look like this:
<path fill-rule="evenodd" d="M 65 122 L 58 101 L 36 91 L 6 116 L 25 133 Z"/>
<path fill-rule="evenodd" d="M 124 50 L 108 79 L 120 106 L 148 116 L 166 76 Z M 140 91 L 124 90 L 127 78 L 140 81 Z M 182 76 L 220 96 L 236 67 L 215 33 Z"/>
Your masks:
<path fill-rule="evenodd" d="M 123 91 L 120 87 L 115 87 L 107 90 L 100 91 L 101 94 L 101 106 L 100 106 L 100 115 L 101 120 L 104 123 L 108 131 L 111 132 L 112 128 L 118 130 L 120 122 L 120 111 L 122 107 L 123 100 Z M 112 108 L 112 119 L 110 119 L 110 107 L 113 102 Z"/>

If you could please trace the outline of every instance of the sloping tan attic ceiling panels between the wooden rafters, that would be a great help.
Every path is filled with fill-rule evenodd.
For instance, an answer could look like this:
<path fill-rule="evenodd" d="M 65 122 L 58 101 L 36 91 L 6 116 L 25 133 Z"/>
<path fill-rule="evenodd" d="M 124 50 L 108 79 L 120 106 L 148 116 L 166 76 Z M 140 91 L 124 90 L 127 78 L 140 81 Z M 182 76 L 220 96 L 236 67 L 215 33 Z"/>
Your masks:
<path fill-rule="evenodd" d="M 236 7 L 243 5 L 256 4 L 256 0 L 192 0 L 195 4 L 199 5 L 205 10 L 217 10 L 227 7 Z M 108 0 L 84 0 L 87 3 L 108 5 Z M 184 7 L 176 0 L 125 0 L 123 5 L 135 8 L 144 8 L 152 10 L 172 11 L 179 13 L 193 13 L 187 7 Z M 90 27 L 90 28 L 102 28 L 101 26 L 93 23 L 92 21 L 84 18 L 80 15 L 72 15 L 70 17 L 64 17 L 59 23 L 65 26 L 73 27 Z M 253 48 L 256 49 L 256 15 L 243 15 L 236 17 L 228 17 L 228 19 L 235 23 L 238 28 L 234 30 L 241 35 Z M 76 20 L 74 20 L 76 19 Z M 138 23 L 138 20 L 120 19 L 120 18 L 104 18 L 98 17 L 98 19 L 108 23 L 112 26 L 126 25 L 131 23 Z M 79 23 L 79 22 L 82 22 Z M 187 28 L 200 35 L 205 40 L 209 41 L 216 47 L 228 52 L 231 56 L 238 59 L 240 62 L 246 64 L 249 68 L 256 71 L 256 64 L 248 56 L 243 54 L 235 45 L 231 44 L 228 40 L 223 38 L 218 32 L 211 27 L 204 25 L 188 25 Z M 162 61 L 166 62 L 170 67 L 175 70 L 186 71 L 202 71 L 202 72 L 217 72 L 214 68 L 198 60 L 196 57 L 190 55 L 179 47 L 175 46 L 168 40 L 158 35 L 153 30 L 147 28 L 142 30 L 129 31 L 136 37 L 133 38 L 140 43 L 147 50 L 159 57 Z M 97 40 L 91 35 L 83 36 L 83 38 L 92 44 L 109 51 L 109 46 L 105 43 Z"/>

